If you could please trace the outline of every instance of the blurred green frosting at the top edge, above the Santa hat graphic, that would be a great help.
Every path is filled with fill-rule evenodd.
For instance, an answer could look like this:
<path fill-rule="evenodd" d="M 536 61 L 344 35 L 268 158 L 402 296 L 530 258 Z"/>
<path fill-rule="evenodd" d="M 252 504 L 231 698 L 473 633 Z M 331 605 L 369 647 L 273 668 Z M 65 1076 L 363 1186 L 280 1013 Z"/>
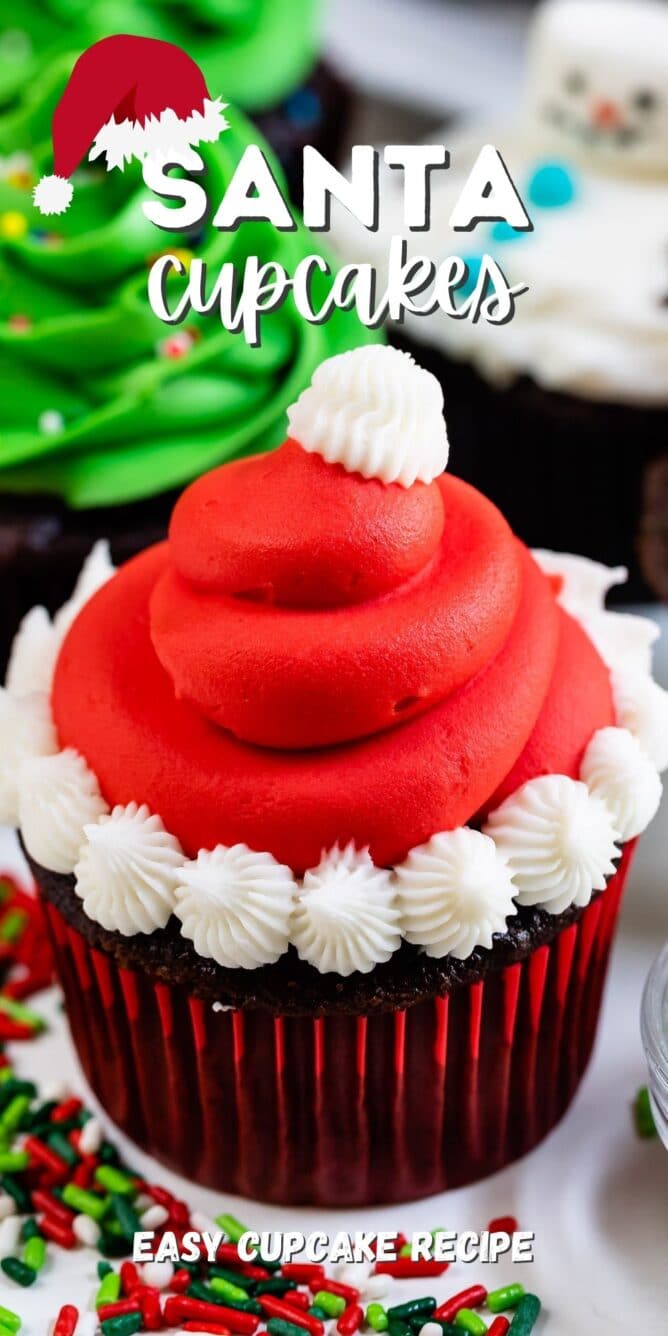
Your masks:
<path fill-rule="evenodd" d="M 212 98 L 265 111 L 310 75 L 319 11 L 321 0 L 20 0 L 0 20 L 0 106 L 41 77 L 44 60 L 131 32 L 184 47 Z"/>

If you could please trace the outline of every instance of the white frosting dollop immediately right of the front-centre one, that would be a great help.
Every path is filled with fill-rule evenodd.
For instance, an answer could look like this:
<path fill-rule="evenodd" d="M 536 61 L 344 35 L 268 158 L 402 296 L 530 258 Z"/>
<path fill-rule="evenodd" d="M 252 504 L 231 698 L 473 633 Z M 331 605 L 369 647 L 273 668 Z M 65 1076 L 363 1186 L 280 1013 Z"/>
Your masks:
<path fill-rule="evenodd" d="M 437 959 L 493 946 L 517 914 L 510 870 L 494 842 L 466 826 L 434 835 L 397 868 L 403 937 Z"/>

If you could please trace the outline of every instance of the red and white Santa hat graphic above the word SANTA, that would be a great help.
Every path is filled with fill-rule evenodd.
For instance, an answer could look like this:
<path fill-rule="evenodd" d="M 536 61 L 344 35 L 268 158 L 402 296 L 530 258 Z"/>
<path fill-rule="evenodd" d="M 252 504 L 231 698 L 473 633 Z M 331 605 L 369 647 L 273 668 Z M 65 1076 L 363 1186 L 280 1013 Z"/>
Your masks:
<path fill-rule="evenodd" d="M 214 143 L 227 128 L 226 103 L 212 102 L 204 76 L 180 47 L 155 37 L 103 37 L 76 61 L 53 112 L 53 175 L 33 191 L 41 214 L 64 214 L 69 176 L 88 154 L 107 170 L 132 158 Z"/>

